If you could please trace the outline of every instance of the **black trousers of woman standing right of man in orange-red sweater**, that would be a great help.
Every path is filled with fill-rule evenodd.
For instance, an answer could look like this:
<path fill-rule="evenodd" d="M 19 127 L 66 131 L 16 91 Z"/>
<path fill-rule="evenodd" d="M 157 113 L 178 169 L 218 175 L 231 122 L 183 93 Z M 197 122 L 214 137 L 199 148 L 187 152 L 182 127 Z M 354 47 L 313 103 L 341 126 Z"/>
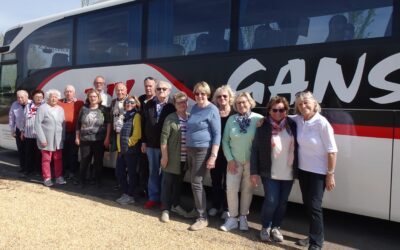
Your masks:
<path fill-rule="evenodd" d="M 97 184 L 100 184 L 104 157 L 103 141 L 81 141 L 79 148 L 81 152 L 81 166 L 79 171 L 81 184 L 85 184 L 86 172 L 92 158 L 95 180 Z"/>

